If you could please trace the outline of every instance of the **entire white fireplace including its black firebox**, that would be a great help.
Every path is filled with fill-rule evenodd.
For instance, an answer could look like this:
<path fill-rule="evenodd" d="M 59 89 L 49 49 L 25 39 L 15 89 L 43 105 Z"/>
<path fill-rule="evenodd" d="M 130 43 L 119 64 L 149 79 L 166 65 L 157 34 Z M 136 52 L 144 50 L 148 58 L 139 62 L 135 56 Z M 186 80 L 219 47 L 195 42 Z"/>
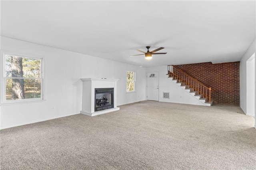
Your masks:
<path fill-rule="evenodd" d="M 118 79 L 85 78 L 83 81 L 82 111 L 96 116 L 119 110 L 116 107 L 116 83 Z"/>

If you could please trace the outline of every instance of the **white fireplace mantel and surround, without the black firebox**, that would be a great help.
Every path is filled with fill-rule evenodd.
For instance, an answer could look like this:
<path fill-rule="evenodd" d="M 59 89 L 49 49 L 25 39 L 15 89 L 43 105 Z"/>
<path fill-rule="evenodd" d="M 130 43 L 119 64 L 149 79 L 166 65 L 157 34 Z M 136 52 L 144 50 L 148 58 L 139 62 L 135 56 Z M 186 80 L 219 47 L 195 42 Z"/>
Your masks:
<path fill-rule="evenodd" d="M 87 116 L 96 116 L 119 110 L 119 107 L 116 107 L 116 82 L 118 79 L 85 78 L 81 80 L 83 81 L 83 100 L 80 113 Z M 95 88 L 114 88 L 114 108 L 94 111 Z"/>

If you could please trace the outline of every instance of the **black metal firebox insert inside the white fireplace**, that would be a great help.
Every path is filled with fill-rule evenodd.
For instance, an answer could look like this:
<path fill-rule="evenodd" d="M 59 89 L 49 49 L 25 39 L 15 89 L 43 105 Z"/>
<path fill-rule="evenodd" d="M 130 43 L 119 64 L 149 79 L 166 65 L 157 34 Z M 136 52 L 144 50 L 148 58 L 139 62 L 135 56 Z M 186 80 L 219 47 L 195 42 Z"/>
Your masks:
<path fill-rule="evenodd" d="M 95 89 L 94 111 L 114 108 L 114 88 Z"/>

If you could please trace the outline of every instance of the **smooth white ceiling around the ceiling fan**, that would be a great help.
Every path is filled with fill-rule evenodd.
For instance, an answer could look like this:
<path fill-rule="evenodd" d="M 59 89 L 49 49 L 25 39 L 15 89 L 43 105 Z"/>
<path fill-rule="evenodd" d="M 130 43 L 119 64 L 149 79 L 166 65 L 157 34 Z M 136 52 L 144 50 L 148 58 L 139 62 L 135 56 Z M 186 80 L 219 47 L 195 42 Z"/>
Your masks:
<path fill-rule="evenodd" d="M 1 36 L 144 67 L 240 61 L 253 1 L 1 1 Z M 135 49 L 167 52 L 148 61 Z"/>

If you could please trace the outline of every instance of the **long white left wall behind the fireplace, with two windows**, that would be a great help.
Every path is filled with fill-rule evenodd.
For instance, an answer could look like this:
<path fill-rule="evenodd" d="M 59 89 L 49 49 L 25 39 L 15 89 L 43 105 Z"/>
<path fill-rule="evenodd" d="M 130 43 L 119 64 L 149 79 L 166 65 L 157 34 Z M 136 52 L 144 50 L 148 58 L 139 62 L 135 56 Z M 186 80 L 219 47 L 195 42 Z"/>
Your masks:
<path fill-rule="evenodd" d="M 82 110 L 80 78 L 119 79 L 117 105 L 146 99 L 146 69 L 62 49 L 1 37 L 1 50 L 44 56 L 44 101 L 0 104 L 0 128 L 9 128 Z M 0 57 L 1 61 L 3 56 Z M 126 70 L 136 71 L 136 92 L 126 93 Z M 2 65 L 1 65 L 2 71 Z M 2 96 L 1 87 L 1 101 Z"/>

